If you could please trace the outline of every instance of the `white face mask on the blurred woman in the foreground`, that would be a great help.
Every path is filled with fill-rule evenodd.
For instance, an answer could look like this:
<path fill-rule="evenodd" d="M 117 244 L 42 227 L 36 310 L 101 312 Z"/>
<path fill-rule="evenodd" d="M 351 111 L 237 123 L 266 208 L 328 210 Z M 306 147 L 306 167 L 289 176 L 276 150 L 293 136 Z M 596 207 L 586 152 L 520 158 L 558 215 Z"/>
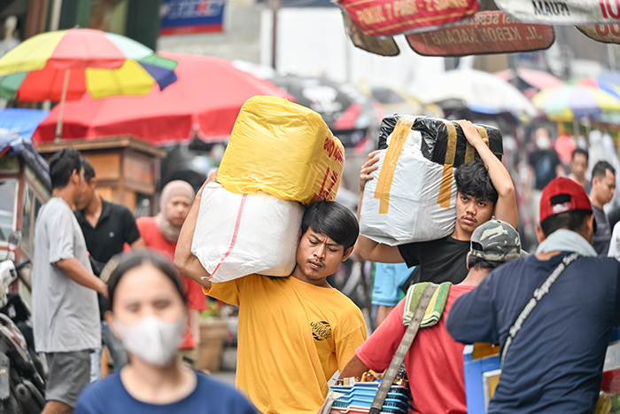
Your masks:
<path fill-rule="evenodd" d="M 120 340 L 128 352 L 145 363 L 166 366 L 174 361 L 186 330 L 187 318 L 166 322 L 157 316 L 146 316 L 136 324 L 124 325 L 115 319 Z"/>

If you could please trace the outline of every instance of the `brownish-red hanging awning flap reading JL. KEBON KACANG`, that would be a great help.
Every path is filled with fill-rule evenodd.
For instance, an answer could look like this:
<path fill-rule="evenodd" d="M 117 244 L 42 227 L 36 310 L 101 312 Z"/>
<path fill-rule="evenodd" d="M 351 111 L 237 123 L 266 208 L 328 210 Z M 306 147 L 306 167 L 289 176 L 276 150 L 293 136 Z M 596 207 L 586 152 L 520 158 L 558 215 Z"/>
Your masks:
<path fill-rule="evenodd" d="M 459 26 L 407 35 L 409 46 L 425 56 L 539 51 L 554 40 L 553 27 L 518 23 L 502 12 L 477 12 Z"/>

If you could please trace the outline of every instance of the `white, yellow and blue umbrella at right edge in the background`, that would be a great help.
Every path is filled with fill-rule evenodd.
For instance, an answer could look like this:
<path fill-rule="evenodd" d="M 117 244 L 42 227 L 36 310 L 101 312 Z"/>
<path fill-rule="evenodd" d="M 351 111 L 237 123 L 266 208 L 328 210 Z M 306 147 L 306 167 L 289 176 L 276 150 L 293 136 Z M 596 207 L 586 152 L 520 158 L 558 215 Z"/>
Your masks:
<path fill-rule="evenodd" d="M 552 121 L 573 121 L 600 113 L 620 112 L 620 99 L 599 88 L 581 85 L 546 88 L 531 102 Z"/>

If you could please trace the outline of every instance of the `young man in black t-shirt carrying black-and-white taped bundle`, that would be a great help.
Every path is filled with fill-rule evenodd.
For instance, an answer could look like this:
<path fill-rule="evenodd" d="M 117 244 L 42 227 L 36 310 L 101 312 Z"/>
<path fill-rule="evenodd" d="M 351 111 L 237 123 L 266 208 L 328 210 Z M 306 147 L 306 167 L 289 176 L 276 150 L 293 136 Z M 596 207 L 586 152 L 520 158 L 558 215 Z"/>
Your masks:
<path fill-rule="evenodd" d="M 456 223 L 453 233 L 445 238 L 388 246 L 360 235 L 360 253 L 372 262 L 400 263 L 420 267 L 415 282 L 452 282 L 459 284 L 467 277 L 465 257 L 469 252 L 471 233 L 493 216 L 516 227 L 515 186 L 508 171 L 492 153 L 483 137 L 470 121 L 455 121 L 461 126 L 469 145 L 480 156 L 456 169 Z M 360 205 L 364 186 L 372 180 L 378 152 L 368 154 L 360 172 Z"/>

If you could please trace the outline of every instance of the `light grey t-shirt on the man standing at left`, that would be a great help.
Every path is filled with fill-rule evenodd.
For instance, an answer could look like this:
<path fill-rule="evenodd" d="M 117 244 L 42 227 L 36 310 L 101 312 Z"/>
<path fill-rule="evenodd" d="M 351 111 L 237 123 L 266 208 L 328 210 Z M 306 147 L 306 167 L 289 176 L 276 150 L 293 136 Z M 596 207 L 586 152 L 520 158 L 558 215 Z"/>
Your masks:
<path fill-rule="evenodd" d="M 80 225 L 64 199 L 43 205 L 36 220 L 32 276 L 33 327 L 37 352 L 101 348 L 97 293 L 56 266 L 75 258 L 90 272 Z"/>

